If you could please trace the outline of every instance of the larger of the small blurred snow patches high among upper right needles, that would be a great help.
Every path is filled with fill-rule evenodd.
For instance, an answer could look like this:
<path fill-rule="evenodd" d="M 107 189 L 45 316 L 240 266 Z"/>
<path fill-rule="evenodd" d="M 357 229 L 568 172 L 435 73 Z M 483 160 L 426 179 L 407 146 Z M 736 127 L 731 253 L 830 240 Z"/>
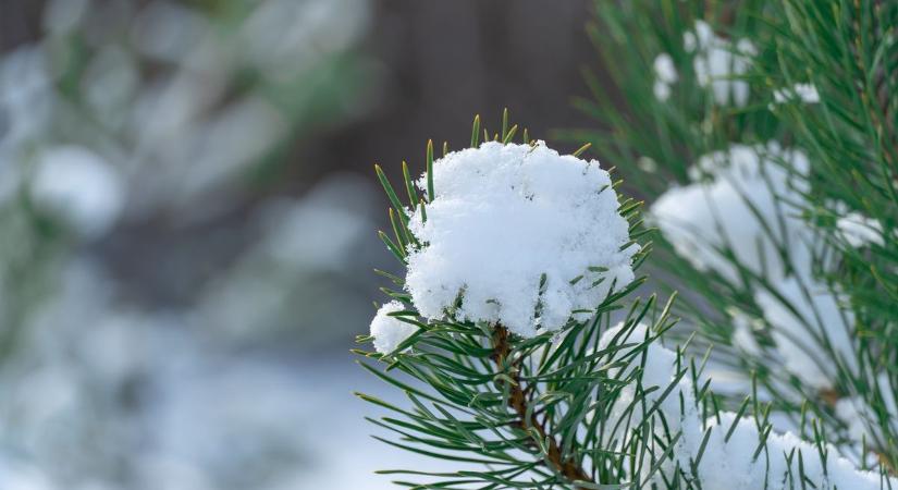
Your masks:
<path fill-rule="evenodd" d="M 696 21 L 693 30 L 685 33 L 682 41 L 688 52 L 696 53 L 692 69 L 699 86 L 710 87 L 719 106 L 743 107 L 748 102 L 749 84 L 739 77 L 748 73 L 751 57 L 756 53 L 751 41 L 739 39 L 734 45 L 714 34 L 704 21 Z"/>

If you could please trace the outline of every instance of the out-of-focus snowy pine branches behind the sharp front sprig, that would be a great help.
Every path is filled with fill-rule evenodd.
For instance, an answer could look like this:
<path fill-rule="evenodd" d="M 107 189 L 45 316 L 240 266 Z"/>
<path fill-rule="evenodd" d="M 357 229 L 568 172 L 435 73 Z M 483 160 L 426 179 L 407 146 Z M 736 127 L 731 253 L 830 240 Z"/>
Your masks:
<path fill-rule="evenodd" d="M 778 428 L 810 440 L 816 417 L 852 463 L 898 474 L 898 70 L 884 62 L 898 4 L 628 4 L 598 7 L 605 28 L 590 30 L 623 100 L 593 84 L 578 106 L 601 128 L 570 133 L 661 196 L 649 264 L 685 293 L 674 333 L 715 346 L 730 408 L 753 381 Z"/>

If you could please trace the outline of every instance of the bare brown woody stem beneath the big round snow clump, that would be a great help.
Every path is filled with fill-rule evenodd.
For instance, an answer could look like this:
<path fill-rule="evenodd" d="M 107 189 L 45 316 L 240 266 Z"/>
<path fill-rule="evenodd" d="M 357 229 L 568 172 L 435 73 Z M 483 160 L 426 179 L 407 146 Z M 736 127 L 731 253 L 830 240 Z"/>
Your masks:
<path fill-rule="evenodd" d="M 508 354 L 510 353 L 509 336 L 510 333 L 508 329 L 501 324 L 495 326 L 495 332 L 493 333 L 493 360 L 499 369 L 506 368 Z M 519 364 L 519 362 L 517 364 Z M 528 415 L 527 405 L 530 403 L 530 390 L 524 388 L 519 372 L 520 369 L 517 365 L 510 366 L 508 376 L 513 382 L 509 385 L 508 407 L 517 414 L 518 427 L 526 431 L 533 429 L 537 432 L 539 439 L 546 444 L 548 463 L 565 478 L 571 481 L 579 480 L 594 483 L 592 477 L 580 467 L 574 457 L 563 457 L 558 442 L 555 440 L 555 437 L 550 434 L 545 429 L 545 421 L 540 422 L 538 420 L 536 411 Z M 586 490 L 582 487 L 577 487 L 577 489 Z"/>

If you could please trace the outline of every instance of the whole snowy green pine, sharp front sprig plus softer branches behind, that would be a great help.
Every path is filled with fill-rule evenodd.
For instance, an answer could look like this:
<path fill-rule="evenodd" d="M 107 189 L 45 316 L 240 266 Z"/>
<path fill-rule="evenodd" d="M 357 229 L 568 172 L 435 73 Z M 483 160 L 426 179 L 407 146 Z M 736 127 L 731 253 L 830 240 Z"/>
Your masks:
<path fill-rule="evenodd" d="M 392 301 L 360 338 L 376 352 L 357 352 L 409 405 L 360 396 L 394 412 L 372 419 L 384 442 L 458 465 L 385 473 L 413 488 L 895 488 L 898 5 L 596 13 L 617 97 L 588 74 L 577 106 L 598 128 L 563 135 L 625 186 L 575 157 L 586 147 L 512 143 L 507 114 L 496 133 L 476 119 L 470 149 L 434 162 L 428 145 L 398 193 L 378 168 L 381 237 L 407 274 L 383 273 Z M 650 226 L 624 188 L 652 200 Z M 635 297 L 643 284 L 661 295 Z"/>

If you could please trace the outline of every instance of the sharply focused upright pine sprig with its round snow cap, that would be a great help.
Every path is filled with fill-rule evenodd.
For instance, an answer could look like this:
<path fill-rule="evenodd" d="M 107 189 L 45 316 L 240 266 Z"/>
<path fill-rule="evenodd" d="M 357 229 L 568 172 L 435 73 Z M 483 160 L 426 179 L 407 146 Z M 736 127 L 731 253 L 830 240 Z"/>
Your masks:
<path fill-rule="evenodd" d="M 526 132 L 510 143 L 507 123 L 479 144 L 477 121 L 471 148 L 434 161 L 429 146 L 417 181 L 404 169 L 409 205 L 378 169 L 393 207 L 393 236 L 381 236 L 407 273 L 393 278 L 403 291 L 391 292 L 370 338 L 378 357 L 433 390 L 408 392 L 416 408 L 399 409 L 406 422 L 379 425 L 439 457 L 455 450 L 477 455 L 459 462 L 492 461 L 471 471 L 484 482 L 591 488 L 613 465 L 586 451 L 590 400 L 606 394 L 600 357 L 585 353 L 599 319 L 641 282 L 633 262 L 644 250 L 631 238 L 639 203 L 622 203 L 598 161 Z M 493 464 L 514 471 L 489 471 Z"/>

